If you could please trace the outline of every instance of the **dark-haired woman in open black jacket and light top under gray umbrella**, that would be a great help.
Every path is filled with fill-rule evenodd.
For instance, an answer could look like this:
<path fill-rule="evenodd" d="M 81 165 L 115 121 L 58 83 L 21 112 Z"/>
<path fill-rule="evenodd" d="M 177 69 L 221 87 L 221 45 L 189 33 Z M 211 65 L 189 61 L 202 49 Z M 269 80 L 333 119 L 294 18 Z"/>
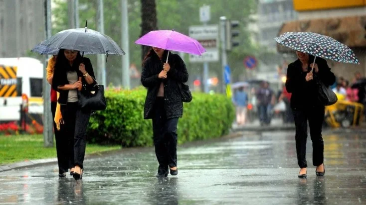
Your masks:
<path fill-rule="evenodd" d="M 78 90 L 86 92 L 95 84 L 92 64 L 88 58 L 81 57 L 79 51 L 60 49 L 55 63 L 52 87 L 60 95 L 62 124 L 68 140 L 69 167 L 74 167 L 73 177 L 82 178 L 86 147 L 86 128 L 91 110 L 78 106 Z M 85 87 L 86 89 L 81 89 Z"/>

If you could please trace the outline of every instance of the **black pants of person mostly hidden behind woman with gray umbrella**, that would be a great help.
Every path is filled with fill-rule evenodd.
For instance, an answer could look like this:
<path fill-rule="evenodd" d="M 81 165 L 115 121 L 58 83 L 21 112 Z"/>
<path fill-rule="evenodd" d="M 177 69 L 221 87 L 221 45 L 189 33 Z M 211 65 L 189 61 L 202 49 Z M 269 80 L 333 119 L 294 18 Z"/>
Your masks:
<path fill-rule="evenodd" d="M 52 119 L 55 118 L 56 113 L 56 102 L 51 102 L 51 112 L 52 112 Z M 67 170 L 70 168 L 68 166 L 68 153 L 67 150 L 67 140 L 64 138 L 64 135 L 62 134 L 63 130 L 57 130 L 56 123 L 53 121 L 53 130 L 55 133 L 55 140 L 56 140 L 56 153 L 57 153 L 57 162 L 58 162 L 58 172 L 60 174 L 67 172 Z"/>

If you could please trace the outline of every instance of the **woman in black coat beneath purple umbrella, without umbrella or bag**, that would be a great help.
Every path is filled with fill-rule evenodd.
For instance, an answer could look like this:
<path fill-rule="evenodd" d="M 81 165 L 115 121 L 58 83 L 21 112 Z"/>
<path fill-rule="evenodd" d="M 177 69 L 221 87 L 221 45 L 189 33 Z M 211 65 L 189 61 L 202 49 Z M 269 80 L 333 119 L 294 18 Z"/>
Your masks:
<path fill-rule="evenodd" d="M 144 119 L 153 119 L 158 178 L 168 177 L 169 170 L 171 175 L 178 174 L 177 125 L 183 115 L 179 84 L 187 80 L 188 72 L 179 55 L 169 55 L 168 50 L 152 47 L 143 61 L 141 82 L 148 88 Z"/>

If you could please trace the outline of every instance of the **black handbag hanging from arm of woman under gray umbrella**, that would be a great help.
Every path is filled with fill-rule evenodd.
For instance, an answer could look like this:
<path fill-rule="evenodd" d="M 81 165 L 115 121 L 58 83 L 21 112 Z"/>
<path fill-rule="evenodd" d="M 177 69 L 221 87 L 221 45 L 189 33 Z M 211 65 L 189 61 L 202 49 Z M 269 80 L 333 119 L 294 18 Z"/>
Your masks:
<path fill-rule="evenodd" d="M 78 91 L 79 107 L 87 110 L 105 110 L 107 102 L 104 97 L 104 86 L 99 85 L 95 79 L 94 81 L 92 88 L 83 85 L 83 92 Z"/>

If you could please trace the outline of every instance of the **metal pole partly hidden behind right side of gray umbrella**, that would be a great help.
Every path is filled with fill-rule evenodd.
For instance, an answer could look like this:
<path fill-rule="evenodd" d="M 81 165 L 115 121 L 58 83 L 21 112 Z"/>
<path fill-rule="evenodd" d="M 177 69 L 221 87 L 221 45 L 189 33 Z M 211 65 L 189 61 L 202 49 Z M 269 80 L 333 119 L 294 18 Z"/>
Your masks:
<path fill-rule="evenodd" d="M 103 12 L 103 0 L 98 1 L 98 29 L 100 33 L 104 33 L 104 12 Z M 98 72 L 97 81 L 102 82 L 104 86 L 106 85 L 106 62 L 105 55 L 99 54 L 97 56 Z"/>

